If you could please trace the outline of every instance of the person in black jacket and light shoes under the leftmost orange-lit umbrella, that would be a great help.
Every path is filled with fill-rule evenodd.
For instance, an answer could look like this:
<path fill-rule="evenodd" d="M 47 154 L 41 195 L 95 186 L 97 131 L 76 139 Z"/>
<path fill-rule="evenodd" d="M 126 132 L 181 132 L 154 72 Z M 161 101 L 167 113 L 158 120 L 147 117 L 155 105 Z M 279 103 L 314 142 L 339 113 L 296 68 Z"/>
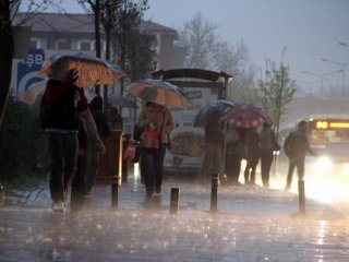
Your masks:
<path fill-rule="evenodd" d="M 48 139 L 50 156 L 49 188 L 52 211 L 64 212 L 68 186 L 75 174 L 79 148 L 79 93 L 73 85 L 75 71 L 67 81 L 50 79 L 40 103 L 39 120 Z"/>

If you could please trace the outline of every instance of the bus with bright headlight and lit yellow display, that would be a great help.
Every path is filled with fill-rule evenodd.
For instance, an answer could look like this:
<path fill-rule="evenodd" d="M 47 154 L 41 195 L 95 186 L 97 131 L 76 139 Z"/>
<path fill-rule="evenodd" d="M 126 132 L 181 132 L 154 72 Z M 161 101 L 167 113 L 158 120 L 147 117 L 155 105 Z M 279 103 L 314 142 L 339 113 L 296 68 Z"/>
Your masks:
<path fill-rule="evenodd" d="M 309 122 L 310 146 L 317 156 L 306 156 L 306 165 L 317 175 L 349 174 L 349 116 L 311 116 Z"/>

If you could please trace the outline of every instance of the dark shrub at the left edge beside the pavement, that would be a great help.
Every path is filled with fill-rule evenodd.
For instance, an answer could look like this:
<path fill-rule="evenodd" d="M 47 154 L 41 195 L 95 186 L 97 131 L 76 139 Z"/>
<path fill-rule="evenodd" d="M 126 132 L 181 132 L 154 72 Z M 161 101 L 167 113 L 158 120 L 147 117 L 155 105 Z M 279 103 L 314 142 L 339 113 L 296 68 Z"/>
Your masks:
<path fill-rule="evenodd" d="M 0 181 L 27 183 L 37 178 L 38 157 L 46 148 L 38 108 L 9 97 L 0 130 Z"/>

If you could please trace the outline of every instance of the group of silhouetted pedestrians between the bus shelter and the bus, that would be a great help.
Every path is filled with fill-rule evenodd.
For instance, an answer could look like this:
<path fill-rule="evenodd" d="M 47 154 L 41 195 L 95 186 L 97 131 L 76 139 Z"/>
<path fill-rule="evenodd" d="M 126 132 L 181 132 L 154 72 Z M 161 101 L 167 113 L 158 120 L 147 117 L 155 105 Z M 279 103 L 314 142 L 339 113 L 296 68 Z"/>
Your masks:
<path fill-rule="evenodd" d="M 205 126 L 206 154 L 198 170 L 200 181 L 208 181 L 212 174 L 219 174 L 221 183 L 229 186 L 256 186 L 256 167 L 261 164 L 262 186 L 269 188 L 269 174 L 275 152 L 281 146 L 277 135 L 272 129 L 272 122 L 265 121 L 261 128 L 236 128 L 222 127 L 217 121 L 207 120 Z M 260 129 L 260 130 L 258 130 Z M 300 121 L 298 130 L 290 132 L 286 138 L 284 150 L 289 158 L 289 168 L 286 179 L 285 191 L 289 191 L 292 182 L 292 172 L 297 167 L 298 178 L 304 177 L 304 158 L 306 152 L 316 155 L 309 145 L 306 135 L 308 122 Z M 224 130 L 226 130 L 224 132 Z M 225 167 L 222 163 L 221 145 L 225 147 Z M 219 145 L 219 146 L 218 146 Z M 241 170 L 242 162 L 245 160 L 244 170 Z M 240 174 L 243 172 L 244 183 L 241 183 Z"/>

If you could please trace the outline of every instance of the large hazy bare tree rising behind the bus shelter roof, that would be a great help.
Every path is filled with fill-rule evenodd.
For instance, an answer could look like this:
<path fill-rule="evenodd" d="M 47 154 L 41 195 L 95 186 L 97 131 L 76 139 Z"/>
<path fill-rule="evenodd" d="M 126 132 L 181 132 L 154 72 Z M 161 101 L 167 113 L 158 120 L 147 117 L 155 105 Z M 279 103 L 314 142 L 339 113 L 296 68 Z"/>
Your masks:
<path fill-rule="evenodd" d="M 234 46 L 219 38 L 217 25 L 200 13 L 185 22 L 178 40 L 179 66 L 232 74 L 227 98 L 246 99 L 254 91 L 254 66 L 250 63 L 249 48 L 243 40 Z"/>

